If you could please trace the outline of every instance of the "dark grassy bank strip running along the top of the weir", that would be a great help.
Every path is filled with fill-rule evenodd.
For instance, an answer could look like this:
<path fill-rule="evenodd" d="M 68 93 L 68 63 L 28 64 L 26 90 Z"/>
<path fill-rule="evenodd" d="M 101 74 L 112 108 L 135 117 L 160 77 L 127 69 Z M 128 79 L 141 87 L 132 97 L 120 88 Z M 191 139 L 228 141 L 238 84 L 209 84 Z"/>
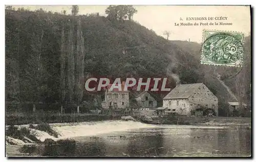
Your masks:
<path fill-rule="evenodd" d="M 69 123 L 83 121 L 119 120 L 121 116 L 101 114 L 16 114 L 6 115 L 6 125 Z"/>

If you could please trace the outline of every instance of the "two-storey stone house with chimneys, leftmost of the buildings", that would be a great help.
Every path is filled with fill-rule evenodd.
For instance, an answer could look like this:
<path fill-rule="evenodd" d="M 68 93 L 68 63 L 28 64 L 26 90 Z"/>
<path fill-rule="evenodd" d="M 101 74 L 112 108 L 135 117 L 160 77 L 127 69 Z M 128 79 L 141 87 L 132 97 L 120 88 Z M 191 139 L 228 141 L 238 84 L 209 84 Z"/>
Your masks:
<path fill-rule="evenodd" d="M 110 91 L 112 84 L 109 84 L 105 90 L 104 101 L 101 102 L 103 109 L 125 109 L 129 106 L 129 91 L 124 91 L 124 82 L 121 85 L 121 91 L 114 88 Z"/>

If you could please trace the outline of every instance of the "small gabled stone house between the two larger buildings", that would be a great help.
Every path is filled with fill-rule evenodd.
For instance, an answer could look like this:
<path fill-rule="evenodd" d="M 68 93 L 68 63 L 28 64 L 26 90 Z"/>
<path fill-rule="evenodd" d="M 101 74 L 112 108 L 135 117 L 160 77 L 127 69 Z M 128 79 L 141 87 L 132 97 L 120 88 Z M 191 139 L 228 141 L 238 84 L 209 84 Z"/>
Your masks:
<path fill-rule="evenodd" d="M 156 99 L 147 91 L 143 91 L 135 97 L 138 106 L 148 109 L 155 109 L 157 107 Z"/>

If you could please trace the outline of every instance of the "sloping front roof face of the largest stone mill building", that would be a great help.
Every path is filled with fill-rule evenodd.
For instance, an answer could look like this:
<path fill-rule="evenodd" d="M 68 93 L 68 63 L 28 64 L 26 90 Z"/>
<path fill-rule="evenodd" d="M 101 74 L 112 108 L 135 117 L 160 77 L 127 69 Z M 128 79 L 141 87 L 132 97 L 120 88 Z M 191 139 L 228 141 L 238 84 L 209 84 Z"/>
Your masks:
<path fill-rule="evenodd" d="M 203 83 L 179 85 L 170 91 L 163 99 L 188 98 L 202 85 Z"/>

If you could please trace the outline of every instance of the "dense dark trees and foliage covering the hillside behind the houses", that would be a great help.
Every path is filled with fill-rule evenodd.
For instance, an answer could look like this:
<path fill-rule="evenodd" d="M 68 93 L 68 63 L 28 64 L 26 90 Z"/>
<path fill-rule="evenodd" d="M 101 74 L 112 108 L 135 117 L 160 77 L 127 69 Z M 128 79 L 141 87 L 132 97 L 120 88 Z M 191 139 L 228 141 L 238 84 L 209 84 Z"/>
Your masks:
<path fill-rule="evenodd" d="M 227 92 L 223 94 L 222 85 L 209 76 L 213 68 L 200 64 L 200 44 L 168 41 L 156 35 L 132 20 L 137 11 L 131 6 L 121 7 L 122 12 L 117 12 L 116 16 L 122 20 L 110 18 L 116 8 L 120 6 L 106 9 L 108 17 L 98 14 L 74 16 L 78 12 L 75 6 L 73 15 L 7 9 L 6 101 L 15 104 L 41 102 L 48 107 L 60 103 L 67 110 L 75 111 L 82 101 L 95 98 L 95 94 L 80 94 L 76 87 L 84 86 L 80 78 L 89 76 L 168 77 L 173 80 L 171 88 L 179 80 L 182 84 L 204 82 L 218 98 L 221 97 L 221 102 L 229 99 L 223 96 Z M 129 20 L 124 20 L 125 15 Z M 246 49 L 248 53 L 249 47 Z M 250 62 L 245 67 L 250 74 L 247 65 Z M 228 67 L 218 69 L 223 77 L 237 72 Z M 230 87 L 236 87 L 229 83 Z M 248 84 L 246 86 L 249 94 Z M 222 95 L 218 96 L 219 92 Z M 248 97 L 244 100 L 248 101 Z M 15 109 L 24 109 L 20 105 Z"/>

